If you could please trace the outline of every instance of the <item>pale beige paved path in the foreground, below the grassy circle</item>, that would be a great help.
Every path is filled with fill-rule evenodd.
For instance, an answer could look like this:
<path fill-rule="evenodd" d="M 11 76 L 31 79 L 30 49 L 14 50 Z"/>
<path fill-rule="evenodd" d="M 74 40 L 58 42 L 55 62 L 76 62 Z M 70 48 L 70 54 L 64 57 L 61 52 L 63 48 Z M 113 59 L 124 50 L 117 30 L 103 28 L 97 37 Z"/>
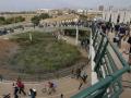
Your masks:
<path fill-rule="evenodd" d="M 44 85 L 46 85 L 47 81 L 40 83 L 25 83 L 25 91 L 28 93 L 29 88 L 37 89 L 37 98 L 59 98 L 60 94 L 63 94 L 66 98 L 69 98 L 73 94 L 78 93 L 79 81 L 71 77 L 63 77 L 60 79 L 53 79 L 58 85 L 57 93 L 52 95 L 48 95 L 47 93 L 41 93 Z M 2 82 L 0 83 L 0 95 L 9 94 L 13 95 L 13 82 Z M 27 96 L 26 96 L 27 97 Z M 21 98 L 26 98 L 21 96 Z"/>

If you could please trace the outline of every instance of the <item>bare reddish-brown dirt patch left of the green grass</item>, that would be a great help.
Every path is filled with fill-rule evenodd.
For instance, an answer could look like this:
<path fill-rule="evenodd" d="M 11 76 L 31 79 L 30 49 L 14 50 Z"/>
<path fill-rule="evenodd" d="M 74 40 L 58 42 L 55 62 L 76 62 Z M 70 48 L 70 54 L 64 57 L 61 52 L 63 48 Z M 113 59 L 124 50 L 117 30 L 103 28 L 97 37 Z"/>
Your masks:
<path fill-rule="evenodd" d="M 0 39 L 0 74 L 12 73 L 11 70 L 7 69 L 8 59 L 16 52 L 17 48 L 16 42 Z"/>

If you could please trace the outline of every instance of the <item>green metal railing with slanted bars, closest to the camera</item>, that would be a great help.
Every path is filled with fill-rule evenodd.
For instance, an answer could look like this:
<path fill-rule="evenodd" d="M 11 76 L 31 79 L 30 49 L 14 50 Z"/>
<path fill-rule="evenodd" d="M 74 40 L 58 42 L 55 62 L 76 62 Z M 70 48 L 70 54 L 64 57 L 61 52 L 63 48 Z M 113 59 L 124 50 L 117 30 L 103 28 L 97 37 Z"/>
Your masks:
<path fill-rule="evenodd" d="M 71 98 L 119 98 L 121 75 L 129 72 L 130 66 L 105 34 L 93 27 L 92 35 L 98 82 Z"/>

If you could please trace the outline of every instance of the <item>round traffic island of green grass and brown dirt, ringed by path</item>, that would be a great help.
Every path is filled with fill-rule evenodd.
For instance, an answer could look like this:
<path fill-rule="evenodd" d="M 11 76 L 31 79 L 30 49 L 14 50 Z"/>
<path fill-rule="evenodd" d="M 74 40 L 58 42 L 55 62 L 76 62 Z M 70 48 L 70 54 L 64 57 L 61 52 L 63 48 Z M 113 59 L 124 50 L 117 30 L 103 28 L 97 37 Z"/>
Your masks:
<path fill-rule="evenodd" d="M 76 46 L 57 39 L 52 33 L 28 32 L 13 35 L 13 46 L 2 51 L 5 78 L 41 79 L 68 75 L 78 63 L 86 62 Z M 4 44 L 5 47 L 5 44 Z M 3 50 L 4 50 L 3 47 Z"/>

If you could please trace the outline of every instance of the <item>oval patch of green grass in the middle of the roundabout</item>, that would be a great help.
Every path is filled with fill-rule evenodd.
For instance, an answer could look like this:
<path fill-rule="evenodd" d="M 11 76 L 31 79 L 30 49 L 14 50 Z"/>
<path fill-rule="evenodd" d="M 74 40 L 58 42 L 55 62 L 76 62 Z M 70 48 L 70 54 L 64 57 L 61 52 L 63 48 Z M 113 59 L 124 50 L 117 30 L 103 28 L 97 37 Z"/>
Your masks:
<path fill-rule="evenodd" d="M 20 49 L 10 59 L 13 70 L 24 73 L 46 73 L 67 68 L 81 58 L 75 46 L 57 40 L 51 33 L 34 32 L 33 41 L 29 33 L 15 35 L 11 40 L 17 41 Z"/>

